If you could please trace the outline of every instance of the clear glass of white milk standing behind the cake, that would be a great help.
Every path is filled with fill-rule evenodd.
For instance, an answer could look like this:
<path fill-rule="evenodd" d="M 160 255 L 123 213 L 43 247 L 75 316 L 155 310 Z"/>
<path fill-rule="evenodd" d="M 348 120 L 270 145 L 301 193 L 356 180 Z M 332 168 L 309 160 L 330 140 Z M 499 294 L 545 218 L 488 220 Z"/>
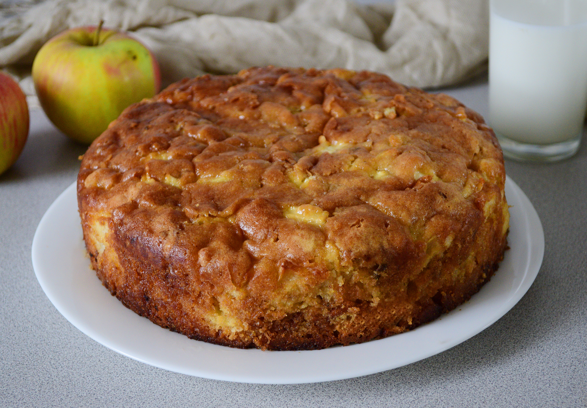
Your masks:
<path fill-rule="evenodd" d="M 489 116 L 504 156 L 579 149 L 587 106 L 587 0 L 491 0 Z"/>

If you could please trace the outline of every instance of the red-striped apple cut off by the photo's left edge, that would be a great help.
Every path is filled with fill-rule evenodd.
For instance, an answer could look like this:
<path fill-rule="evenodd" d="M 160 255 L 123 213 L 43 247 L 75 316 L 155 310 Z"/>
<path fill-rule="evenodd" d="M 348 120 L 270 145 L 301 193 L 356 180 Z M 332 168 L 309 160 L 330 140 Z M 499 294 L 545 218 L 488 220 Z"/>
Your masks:
<path fill-rule="evenodd" d="M 0 72 L 0 174 L 18 159 L 28 136 L 26 96 L 18 83 Z"/>

